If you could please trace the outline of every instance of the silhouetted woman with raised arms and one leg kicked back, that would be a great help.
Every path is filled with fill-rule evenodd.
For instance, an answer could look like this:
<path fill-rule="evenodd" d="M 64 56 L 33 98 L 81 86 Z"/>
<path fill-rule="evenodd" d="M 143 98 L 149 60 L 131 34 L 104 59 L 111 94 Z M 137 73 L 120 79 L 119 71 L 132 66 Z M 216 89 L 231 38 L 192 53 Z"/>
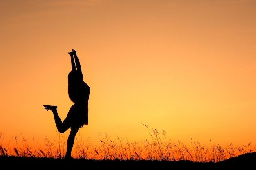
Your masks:
<path fill-rule="evenodd" d="M 68 95 L 74 105 L 70 107 L 63 122 L 58 115 L 57 106 L 43 105 L 47 111 L 51 110 L 53 112 L 54 121 L 60 133 L 64 133 L 71 128 L 70 135 L 67 138 L 65 159 L 72 158 L 71 151 L 79 128 L 82 128 L 83 125 L 88 125 L 88 100 L 90 95 L 90 87 L 83 81 L 81 65 L 76 51 L 73 49 L 69 54 L 72 70 L 68 74 Z"/>

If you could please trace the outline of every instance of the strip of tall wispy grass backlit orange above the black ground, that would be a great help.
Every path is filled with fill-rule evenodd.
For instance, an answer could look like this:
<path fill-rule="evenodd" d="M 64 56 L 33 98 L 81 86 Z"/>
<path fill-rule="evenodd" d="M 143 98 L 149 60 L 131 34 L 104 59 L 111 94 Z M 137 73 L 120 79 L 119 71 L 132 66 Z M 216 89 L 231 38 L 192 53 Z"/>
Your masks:
<path fill-rule="evenodd" d="M 144 124 L 142 124 L 144 125 Z M 223 147 L 211 145 L 207 148 L 200 142 L 194 142 L 191 138 L 191 145 L 184 145 L 171 139 L 166 139 L 164 130 L 148 128 L 151 139 L 139 142 L 130 142 L 116 136 L 111 139 L 106 133 L 101 137 L 101 144 L 94 146 L 90 139 L 82 139 L 76 136 L 76 143 L 73 147 L 73 157 L 76 159 L 92 160 L 159 160 L 159 161 L 180 161 L 189 160 L 193 162 L 219 162 L 241 154 L 256 152 L 256 146 L 247 143 L 243 146 L 234 146 L 232 143 Z M 58 135 L 58 140 L 54 143 L 47 137 L 42 141 L 40 147 L 29 146 L 27 139 L 22 136 L 22 146 L 18 146 L 16 136 L 16 146 L 11 146 L 9 142 L 4 143 L 4 134 L 0 134 L 0 155 L 17 157 L 46 157 L 63 158 L 66 152 L 66 139 L 63 134 Z M 11 139 L 13 140 L 13 138 Z M 34 138 L 33 138 L 34 142 Z"/>

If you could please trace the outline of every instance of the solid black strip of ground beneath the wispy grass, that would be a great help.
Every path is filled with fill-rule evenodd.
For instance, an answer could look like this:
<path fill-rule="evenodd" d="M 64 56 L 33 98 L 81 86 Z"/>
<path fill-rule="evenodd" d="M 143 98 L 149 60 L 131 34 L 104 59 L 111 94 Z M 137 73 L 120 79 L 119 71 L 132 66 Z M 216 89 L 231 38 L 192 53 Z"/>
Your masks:
<path fill-rule="evenodd" d="M 53 159 L 53 158 L 33 158 L 33 157 L 11 157 L 0 156 L 0 164 L 4 169 L 256 169 L 256 152 L 247 153 L 238 157 L 230 158 L 218 163 L 199 163 L 192 161 L 98 161 L 86 159 Z"/>

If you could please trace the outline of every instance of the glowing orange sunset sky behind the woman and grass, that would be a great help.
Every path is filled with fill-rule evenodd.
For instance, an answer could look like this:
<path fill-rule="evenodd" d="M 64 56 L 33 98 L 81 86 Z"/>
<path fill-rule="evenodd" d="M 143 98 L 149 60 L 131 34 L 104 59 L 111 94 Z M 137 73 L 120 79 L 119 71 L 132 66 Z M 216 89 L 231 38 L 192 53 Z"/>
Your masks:
<path fill-rule="evenodd" d="M 256 144 L 255 0 L 1 0 L 0 133 L 41 143 L 65 119 L 75 49 L 90 86 L 77 135 Z M 64 133 L 69 134 L 69 130 Z M 211 140 L 211 143 L 210 143 Z"/>

